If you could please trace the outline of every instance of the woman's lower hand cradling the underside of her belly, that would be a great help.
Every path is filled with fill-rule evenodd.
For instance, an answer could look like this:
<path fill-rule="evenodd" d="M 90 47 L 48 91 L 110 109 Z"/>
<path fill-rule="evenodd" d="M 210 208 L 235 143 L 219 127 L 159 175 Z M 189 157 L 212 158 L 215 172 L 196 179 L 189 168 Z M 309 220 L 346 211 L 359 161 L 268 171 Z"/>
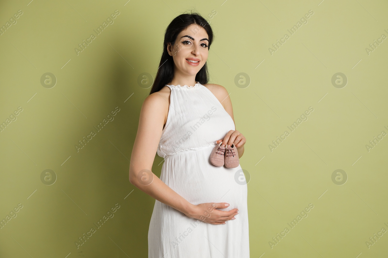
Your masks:
<path fill-rule="evenodd" d="M 217 208 L 227 208 L 229 204 L 226 202 L 208 202 L 194 205 L 191 212 L 188 212 L 187 217 L 202 220 L 210 224 L 225 224 L 227 220 L 236 219 L 234 215 L 238 214 L 238 209 L 224 211 Z"/>

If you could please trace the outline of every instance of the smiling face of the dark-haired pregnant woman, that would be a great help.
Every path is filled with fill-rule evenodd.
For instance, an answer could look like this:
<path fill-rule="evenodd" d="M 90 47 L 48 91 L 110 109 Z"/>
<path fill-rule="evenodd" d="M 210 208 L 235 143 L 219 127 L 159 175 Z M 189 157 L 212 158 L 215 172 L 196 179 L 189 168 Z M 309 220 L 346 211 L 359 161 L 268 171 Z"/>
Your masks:
<path fill-rule="evenodd" d="M 208 59 L 208 44 L 208 34 L 197 24 L 192 24 L 181 31 L 175 44 L 167 45 L 167 51 L 174 60 L 174 72 L 196 75 Z"/>

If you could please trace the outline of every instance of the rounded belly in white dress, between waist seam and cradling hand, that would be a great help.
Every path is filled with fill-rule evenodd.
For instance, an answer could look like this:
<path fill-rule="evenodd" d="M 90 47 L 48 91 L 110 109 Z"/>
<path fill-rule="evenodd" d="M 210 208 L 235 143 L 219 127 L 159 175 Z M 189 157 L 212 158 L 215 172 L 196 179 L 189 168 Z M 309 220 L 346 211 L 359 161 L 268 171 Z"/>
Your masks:
<path fill-rule="evenodd" d="M 214 166 L 209 162 L 207 152 L 201 151 L 171 156 L 165 159 L 161 180 L 188 202 L 194 205 L 208 202 L 230 204 L 230 207 L 220 210 L 246 205 L 247 185 L 241 182 L 244 179 L 240 174 L 241 166 Z"/>

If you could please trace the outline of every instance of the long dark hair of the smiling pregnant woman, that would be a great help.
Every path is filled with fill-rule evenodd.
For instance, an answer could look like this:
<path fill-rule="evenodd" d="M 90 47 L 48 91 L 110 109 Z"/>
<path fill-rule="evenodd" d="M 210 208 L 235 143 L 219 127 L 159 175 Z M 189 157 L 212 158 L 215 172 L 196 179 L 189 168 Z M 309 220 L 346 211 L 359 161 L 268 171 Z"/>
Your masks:
<path fill-rule="evenodd" d="M 181 31 L 184 31 L 191 24 L 198 24 L 203 27 L 203 29 L 208 33 L 209 44 L 208 50 L 210 50 L 210 45 L 213 42 L 213 30 L 210 27 L 210 24 L 204 19 L 200 14 L 192 12 L 190 14 L 181 14 L 175 17 L 165 31 L 165 40 L 163 41 L 163 53 L 160 58 L 158 72 L 156 73 L 154 84 L 152 85 L 151 91 L 149 94 L 159 91 L 166 84 L 168 84 L 174 77 L 174 60 L 173 57 L 168 55 L 167 43 L 170 42 L 171 45 L 175 44 L 178 34 Z M 209 81 L 208 75 L 208 66 L 207 62 L 197 73 L 195 80 L 201 84 L 207 84 Z"/>

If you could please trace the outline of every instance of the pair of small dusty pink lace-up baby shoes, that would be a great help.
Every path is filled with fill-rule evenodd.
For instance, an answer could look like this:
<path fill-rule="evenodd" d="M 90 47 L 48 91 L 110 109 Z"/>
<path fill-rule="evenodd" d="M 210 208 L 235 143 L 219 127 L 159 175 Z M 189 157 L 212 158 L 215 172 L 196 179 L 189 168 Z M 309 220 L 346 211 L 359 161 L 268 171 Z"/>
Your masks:
<path fill-rule="evenodd" d="M 228 168 L 234 168 L 239 166 L 239 155 L 237 154 L 237 148 L 234 144 L 228 146 L 222 146 L 222 142 L 217 144 L 210 154 L 210 163 L 214 166 L 224 166 Z"/>

